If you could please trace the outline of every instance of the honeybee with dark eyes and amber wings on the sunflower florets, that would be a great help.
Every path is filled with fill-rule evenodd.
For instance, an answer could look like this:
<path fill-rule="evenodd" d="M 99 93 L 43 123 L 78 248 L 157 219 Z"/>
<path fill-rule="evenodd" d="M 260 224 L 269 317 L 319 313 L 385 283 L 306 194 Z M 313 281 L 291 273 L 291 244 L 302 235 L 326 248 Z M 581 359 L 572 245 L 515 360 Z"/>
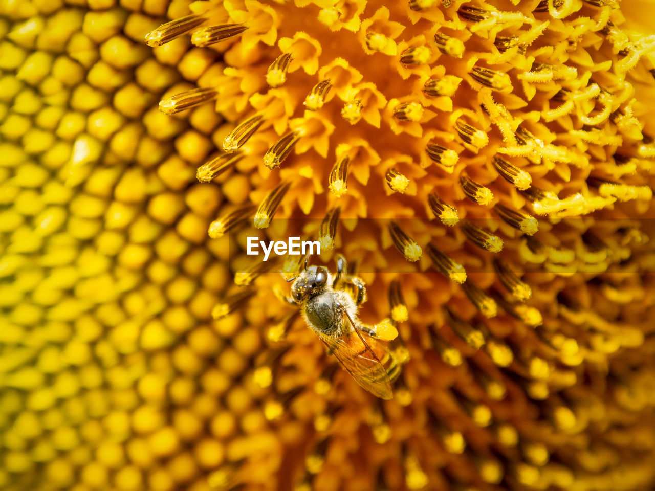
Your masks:
<path fill-rule="evenodd" d="M 308 268 L 305 261 L 303 272 L 287 281 L 293 284 L 291 297 L 285 300 L 301 308 L 307 325 L 341 366 L 365 390 L 381 399 L 391 399 L 392 380 L 400 374 L 400 365 L 379 340 L 375 327 L 358 319 L 357 310 L 366 300 L 366 287 L 361 278 L 348 276 L 345 257 L 337 256 L 334 276 L 324 266 Z M 341 283 L 355 287 L 355 299 L 337 289 Z"/>

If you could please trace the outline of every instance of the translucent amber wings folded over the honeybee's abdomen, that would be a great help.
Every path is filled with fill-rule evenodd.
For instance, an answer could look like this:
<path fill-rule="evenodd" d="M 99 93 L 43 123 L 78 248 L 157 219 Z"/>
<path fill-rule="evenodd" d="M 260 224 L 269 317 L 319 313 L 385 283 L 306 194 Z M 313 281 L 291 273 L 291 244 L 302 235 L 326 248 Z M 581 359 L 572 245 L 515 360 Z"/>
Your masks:
<path fill-rule="evenodd" d="M 350 316 L 348 314 L 345 316 L 352 323 Z M 360 386 L 380 399 L 394 397 L 391 380 L 386 369 L 373 351 L 378 348 L 377 352 L 386 354 L 386 348 L 379 341 L 366 333 L 361 333 L 356 327 L 354 327 L 354 331 L 340 338 L 325 336 L 322 337 L 322 340 Z"/>

